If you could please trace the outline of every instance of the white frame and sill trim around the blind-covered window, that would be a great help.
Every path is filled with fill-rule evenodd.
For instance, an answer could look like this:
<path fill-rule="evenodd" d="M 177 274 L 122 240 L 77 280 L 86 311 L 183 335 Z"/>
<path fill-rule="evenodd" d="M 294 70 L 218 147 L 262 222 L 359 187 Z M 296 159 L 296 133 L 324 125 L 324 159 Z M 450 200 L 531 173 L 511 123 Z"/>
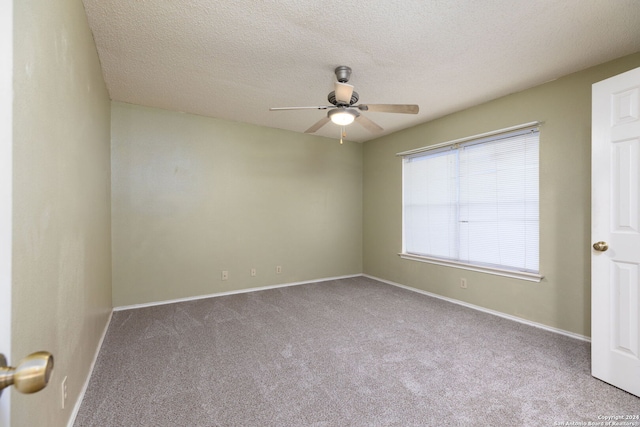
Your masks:
<path fill-rule="evenodd" d="M 452 259 L 446 259 L 446 258 L 438 258 L 438 257 L 432 257 L 432 256 L 428 256 L 428 255 L 418 255 L 418 254 L 414 254 L 414 253 L 408 253 L 406 252 L 406 246 L 405 246 L 405 182 L 404 182 L 404 162 L 406 158 L 411 158 L 411 157 L 416 157 L 419 156 L 421 153 L 426 153 L 429 151 L 441 151 L 442 149 L 445 149 L 446 147 L 452 147 L 452 146 L 456 146 L 456 145 L 469 145 L 469 144 L 481 144 L 484 142 L 488 142 L 491 140 L 495 140 L 498 139 L 500 136 L 502 135 L 508 135 L 509 133 L 513 133 L 513 132 L 518 132 L 518 131 L 526 131 L 528 129 L 532 130 L 532 131 L 537 131 L 540 132 L 540 122 L 530 122 L 530 123 L 524 123 L 521 125 L 517 125 L 517 126 L 512 126 L 509 128 L 505 128 L 505 129 L 499 129 L 496 131 L 492 131 L 492 132 L 486 132 L 483 134 L 479 134 L 479 135 L 473 135 L 473 136 L 469 136 L 469 137 L 465 137 L 465 138 L 460 138 L 460 139 L 456 139 L 453 141 L 447 141 L 447 142 L 443 142 L 443 143 L 439 143 L 439 144 L 434 144 L 434 145 L 430 145 L 430 146 L 426 146 L 426 147 L 421 147 L 421 148 L 417 148 L 414 150 L 409 150 L 409 151 L 404 151 L 401 153 L 397 153 L 396 156 L 401 157 L 402 158 L 402 249 L 401 252 L 398 253 L 398 255 L 402 258 L 402 259 L 406 259 L 406 260 L 411 260 L 411 261 L 419 261 L 419 262 L 425 262 L 425 263 L 429 263 L 429 264 L 436 264 L 436 265 L 443 265 L 443 266 L 447 266 L 447 267 L 453 267 L 453 268 L 459 268 L 459 269 L 463 269 L 463 270 L 470 270 L 470 271 L 478 271 L 478 272 L 482 272 L 482 273 L 488 273 L 488 274 L 494 274 L 494 275 L 498 275 L 498 276 L 503 276 L 503 277 L 510 277 L 510 278 L 515 278 L 515 279 L 521 279 L 521 280 L 526 280 L 526 281 L 531 281 L 531 282 L 540 282 L 544 276 L 540 273 L 542 271 L 542 265 L 540 265 L 540 255 L 538 255 L 538 262 L 539 262 L 539 268 L 538 268 L 538 272 L 534 273 L 534 272 L 527 272 L 527 271 L 520 271 L 517 269 L 510 269 L 510 268 L 502 268 L 499 266 L 487 266 L 487 265 L 482 265 L 482 264 L 472 264 L 472 263 L 467 263 L 464 261 L 459 261 L 459 260 L 452 260 Z M 538 135 L 538 138 L 540 138 L 540 134 Z M 538 163 L 538 170 L 540 170 L 540 164 Z M 539 203 L 539 202 L 538 202 Z M 540 225 L 538 224 L 538 230 L 540 230 Z M 538 237 L 540 239 L 540 237 Z M 538 241 L 538 247 L 540 245 L 540 242 Z"/>

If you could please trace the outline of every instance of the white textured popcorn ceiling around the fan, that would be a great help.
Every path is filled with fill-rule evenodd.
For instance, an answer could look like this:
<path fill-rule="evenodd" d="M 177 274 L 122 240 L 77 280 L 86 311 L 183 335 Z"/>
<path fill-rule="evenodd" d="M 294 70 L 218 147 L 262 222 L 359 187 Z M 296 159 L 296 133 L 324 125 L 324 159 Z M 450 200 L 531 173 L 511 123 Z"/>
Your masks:
<path fill-rule="evenodd" d="M 83 1 L 113 100 L 296 132 L 326 111 L 269 107 L 328 105 L 338 65 L 419 104 L 365 113 L 388 134 L 640 51 L 639 0 Z"/>

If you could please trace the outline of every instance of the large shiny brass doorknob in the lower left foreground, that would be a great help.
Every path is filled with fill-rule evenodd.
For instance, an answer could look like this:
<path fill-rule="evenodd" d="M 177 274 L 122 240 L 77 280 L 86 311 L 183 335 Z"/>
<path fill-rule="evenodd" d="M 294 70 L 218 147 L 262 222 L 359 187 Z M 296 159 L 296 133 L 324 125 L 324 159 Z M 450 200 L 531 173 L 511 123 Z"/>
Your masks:
<path fill-rule="evenodd" d="M 53 355 L 37 351 L 22 359 L 17 368 L 7 366 L 7 359 L 0 354 L 0 394 L 13 385 L 20 393 L 35 393 L 49 383 L 53 371 Z"/>

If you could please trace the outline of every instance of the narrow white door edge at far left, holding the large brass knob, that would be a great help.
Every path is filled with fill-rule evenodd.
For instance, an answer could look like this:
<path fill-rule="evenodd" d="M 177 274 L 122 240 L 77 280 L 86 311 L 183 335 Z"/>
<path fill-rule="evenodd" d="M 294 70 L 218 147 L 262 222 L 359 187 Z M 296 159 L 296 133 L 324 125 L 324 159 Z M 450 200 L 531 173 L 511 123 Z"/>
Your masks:
<path fill-rule="evenodd" d="M 0 353 L 11 362 L 13 189 L 13 0 L 0 0 Z M 10 392 L 0 396 L 0 427 L 10 424 Z"/>

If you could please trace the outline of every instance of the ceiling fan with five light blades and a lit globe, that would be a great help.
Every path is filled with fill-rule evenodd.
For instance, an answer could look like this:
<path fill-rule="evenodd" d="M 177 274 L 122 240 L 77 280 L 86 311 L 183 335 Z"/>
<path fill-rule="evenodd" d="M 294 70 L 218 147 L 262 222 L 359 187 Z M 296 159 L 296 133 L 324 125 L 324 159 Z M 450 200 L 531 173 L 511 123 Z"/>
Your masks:
<path fill-rule="evenodd" d="M 400 114 L 418 114 L 419 108 L 414 104 L 359 104 L 358 92 L 353 90 L 353 86 L 347 84 L 351 77 L 351 68 L 341 65 L 335 69 L 336 78 L 335 90 L 329 93 L 327 100 L 332 105 L 322 105 L 317 107 L 274 107 L 269 108 L 270 111 L 279 110 L 329 110 L 327 116 L 318 120 L 313 126 L 304 131 L 305 133 L 314 133 L 322 126 L 330 121 L 342 127 L 342 136 L 346 136 L 344 126 L 350 125 L 357 121 L 362 127 L 370 132 L 382 132 L 384 129 L 379 125 L 363 116 L 361 111 L 373 111 L 379 113 L 400 113 Z M 342 143 L 342 139 L 340 139 Z"/>

